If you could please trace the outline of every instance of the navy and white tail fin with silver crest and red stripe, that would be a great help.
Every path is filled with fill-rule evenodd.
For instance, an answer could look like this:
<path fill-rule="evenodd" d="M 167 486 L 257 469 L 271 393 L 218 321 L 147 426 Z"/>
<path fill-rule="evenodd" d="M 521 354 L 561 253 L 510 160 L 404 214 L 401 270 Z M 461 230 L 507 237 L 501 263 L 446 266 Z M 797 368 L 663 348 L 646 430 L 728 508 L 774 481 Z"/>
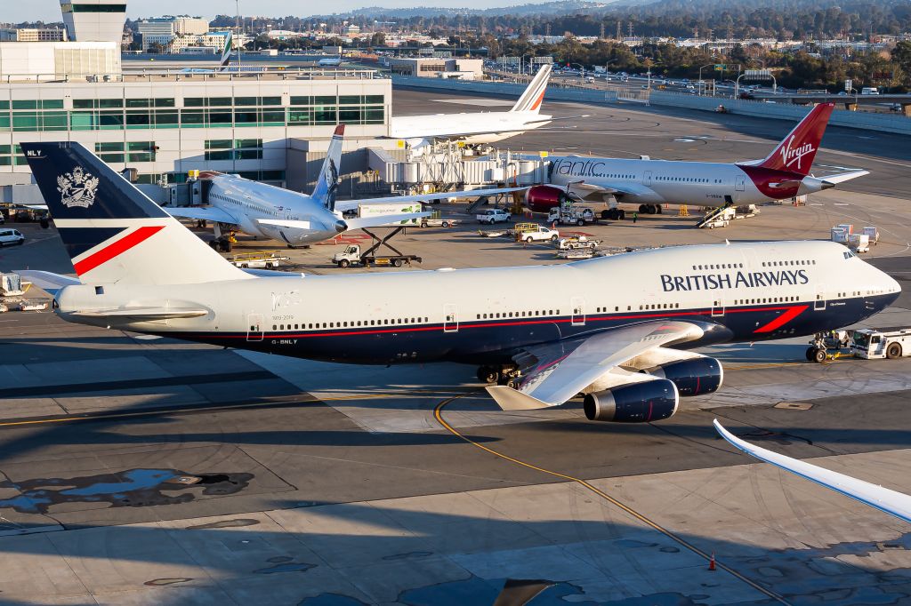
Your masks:
<path fill-rule="evenodd" d="M 83 283 L 251 278 L 81 144 L 21 145 Z"/>

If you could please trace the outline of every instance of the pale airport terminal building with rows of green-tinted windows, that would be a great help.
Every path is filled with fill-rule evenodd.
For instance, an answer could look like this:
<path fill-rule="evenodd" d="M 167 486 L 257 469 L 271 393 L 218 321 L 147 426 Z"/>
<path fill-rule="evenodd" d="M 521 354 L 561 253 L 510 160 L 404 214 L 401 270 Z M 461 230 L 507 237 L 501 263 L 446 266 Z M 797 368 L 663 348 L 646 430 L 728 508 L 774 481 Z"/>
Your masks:
<path fill-rule="evenodd" d="M 40 201 L 27 141 L 78 141 L 143 184 L 199 169 L 301 188 L 335 125 L 347 126 L 347 149 L 388 134 L 392 83 L 372 70 L 130 73 L 119 30 L 107 42 L 69 33 L 77 39 L 0 42 L 0 203 Z"/>

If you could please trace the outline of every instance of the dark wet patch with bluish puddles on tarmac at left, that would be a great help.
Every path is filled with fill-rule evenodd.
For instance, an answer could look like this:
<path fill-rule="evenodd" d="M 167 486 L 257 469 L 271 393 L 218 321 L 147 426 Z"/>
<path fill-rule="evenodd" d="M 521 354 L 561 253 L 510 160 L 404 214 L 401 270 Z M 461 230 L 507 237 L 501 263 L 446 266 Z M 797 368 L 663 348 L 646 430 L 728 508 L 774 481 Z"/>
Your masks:
<path fill-rule="evenodd" d="M 77 478 L 36 478 L 0 481 L 0 489 L 18 490 L 0 500 L 0 509 L 46 514 L 61 503 L 108 503 L 111 507 L 174 505 L 205 496 L 222 496 L 245 489 L 251 473 L 189 474 L 179 470 L 134 469 Z M 200 489 L 201 490 L 197 490 Z M 195 490 L 195 491 L 188 491 Z"/>

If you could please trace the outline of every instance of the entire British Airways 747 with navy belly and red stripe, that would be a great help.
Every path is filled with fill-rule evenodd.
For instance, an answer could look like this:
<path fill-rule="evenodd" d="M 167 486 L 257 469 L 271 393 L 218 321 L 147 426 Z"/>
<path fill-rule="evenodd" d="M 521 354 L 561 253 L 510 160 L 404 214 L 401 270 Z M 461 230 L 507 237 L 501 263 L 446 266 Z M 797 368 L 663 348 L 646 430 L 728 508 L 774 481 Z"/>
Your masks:
<path fill-rule="evenodd" d="M 692 348 L 842 327 L 900 291 L 827 241 L 520 268 L 254 276 L 84 146 L 22 147 L 78 278 L 22 273 L 53 293 L 61 318 L 306 359 L 474 364 L 479 379 L 500 383 L 487 390 L 503 409 L 583 392 L 589 419 L 667 419 L 681 396 L 722 385 L 720 362 Z"/>

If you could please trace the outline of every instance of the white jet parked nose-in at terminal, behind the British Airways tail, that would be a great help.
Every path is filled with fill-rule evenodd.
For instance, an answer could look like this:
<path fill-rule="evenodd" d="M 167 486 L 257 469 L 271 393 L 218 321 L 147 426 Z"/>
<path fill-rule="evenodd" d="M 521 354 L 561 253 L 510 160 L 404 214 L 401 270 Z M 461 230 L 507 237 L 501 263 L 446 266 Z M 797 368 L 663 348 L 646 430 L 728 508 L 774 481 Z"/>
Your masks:
<path fill-rule="evenodd" d="M 422 212 L 347 219 L 342 217 L 343 210 L 361 204 L 430 202 L 439 197 L 491 196 L 524 189 L 476 189 L 337 202 L 335 196 L 342 161 L 343 135 L 344 125 L 336 126 L 312 196 L 257 183 L 237 175 L 206 172 L 200 177 L 210 183 L 207 198 L 209 205 L 168 207 L 168 212 L 173 217 L 212 221 L 215 223 L 216 236 L 220 236 L 224 229 L 238 229 L 251 236 L 266 237 L 284 242 L 289 247 L 299 247 L 328 240 L 352 229 L 390 225 L 430 215 Z"/>

